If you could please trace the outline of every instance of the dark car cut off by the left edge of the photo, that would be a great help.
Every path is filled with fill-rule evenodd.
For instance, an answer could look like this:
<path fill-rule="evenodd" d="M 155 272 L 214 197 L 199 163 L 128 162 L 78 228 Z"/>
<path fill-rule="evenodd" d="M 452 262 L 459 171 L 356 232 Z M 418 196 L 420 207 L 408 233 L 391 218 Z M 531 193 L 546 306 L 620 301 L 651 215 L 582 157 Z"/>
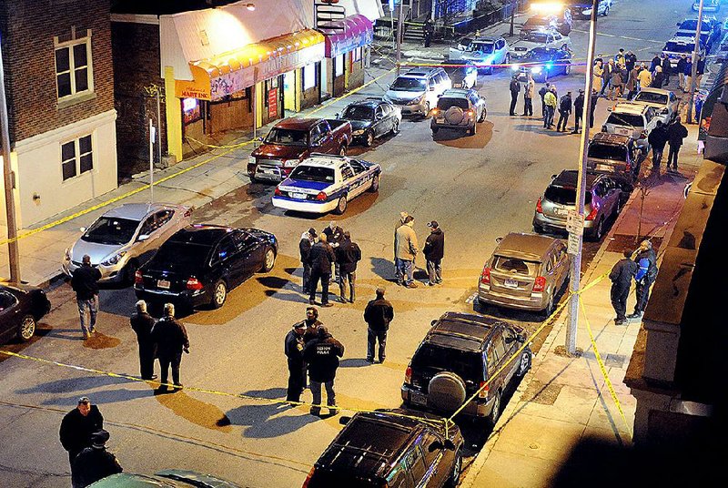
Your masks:
<path fill-rule="evenodd" d="M 30 341 L 35 323 L 50 310 L 51 302 L 43 290 L 28 285 L 0 285 L 0 343 L 15 337 Z"/>

